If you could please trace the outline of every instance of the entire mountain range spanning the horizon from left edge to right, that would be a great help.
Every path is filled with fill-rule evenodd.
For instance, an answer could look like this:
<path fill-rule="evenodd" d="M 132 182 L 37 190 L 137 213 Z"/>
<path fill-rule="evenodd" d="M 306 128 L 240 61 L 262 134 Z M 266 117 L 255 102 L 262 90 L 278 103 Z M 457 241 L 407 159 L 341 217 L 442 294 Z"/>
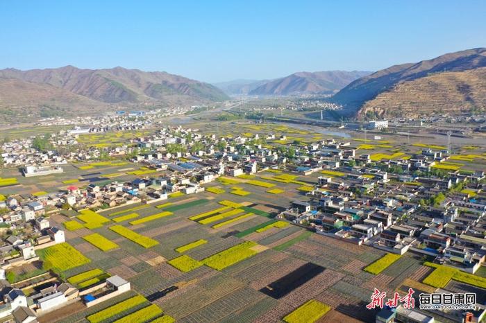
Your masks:
<path fill-rule="evenodd" d="M 486 49 L 447 53 L 374 73 L 299 72 L 275 80 L 235 80 L 215 85 L 166 72 L 122 67 L 2 69 L 0 119 L 214 103 L 228 100 L 228 94 L 333 94 L 329 100 L 342 105 L 340 114 L 369 119 L 486 110 Z"/>

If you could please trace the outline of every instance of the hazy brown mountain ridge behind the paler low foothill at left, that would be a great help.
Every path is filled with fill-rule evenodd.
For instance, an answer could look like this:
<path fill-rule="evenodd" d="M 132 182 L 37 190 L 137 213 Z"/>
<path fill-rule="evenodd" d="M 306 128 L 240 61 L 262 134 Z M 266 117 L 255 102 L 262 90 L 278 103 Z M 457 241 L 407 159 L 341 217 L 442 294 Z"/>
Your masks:
<path fill-rule="evenodd" d="M 138 69 L 58 69 L 0 70 L 0 77 L 51 85 L 102 103 L 202 103 L 228 98 L 216 87 L 165 72 Z"/>

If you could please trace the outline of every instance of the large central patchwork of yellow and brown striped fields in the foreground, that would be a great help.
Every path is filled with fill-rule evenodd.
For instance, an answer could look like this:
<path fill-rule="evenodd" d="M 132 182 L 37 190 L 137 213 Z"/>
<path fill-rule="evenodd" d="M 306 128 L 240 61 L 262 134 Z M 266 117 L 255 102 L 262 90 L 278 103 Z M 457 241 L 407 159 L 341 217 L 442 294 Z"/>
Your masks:
<path fill-rule="evenodd" d="M 283 189 L 299 187 L 292 183 L 275 184 Z M 72 277 L 96 269 L 106 275 L 118 274 L 131 282 L 133 295 L 146 297 L 147 304 L 155 304 L 177 322 L 280 322 L 310 299 L 344 313 L 344 309 L 360 306 L 369 299 L 371 283 L 393 290 L 415 268 L 420 268 L 419 261 L 404 259 L 387 268 L 386 274 L 364 272 L 362 268 L 385 253 L 312 234 L 292 224 L 275 225 L 278 221 L 273 217 L 278 205 L 288 204 L 301 192 L 265 193 L 267 188 L 246 183 L 231 186 L 242 186 L 250 194 L 228 193 L 230 186 L 223 184 L 220 188 L 224 193 L 179 196 L 156 204 L 99 212 L 109 220 L 106 222 L 89 213 L 91 218 L 85 220 L 94 221 L 92 229 L 83 226 L 67 230 L 66 236 L 67 242 L 91 262 L 65 274 Z M 265 194 L 271 198 L 265 199 Z M 62 216 L 53 219 L 60 225 L 73 220 Z M 83 225 L 81 220 L 74 220 Z M 115 226 L 124 229 L 113 229 Z M 91 235 L 94 236 L 90 238 Z M 100 236 L 117 247 L 103 247 Z M 238 249 L 245 241 L 251 241 L 251 250 Z M 234 248 L 236 253 L 228 253 Z M 205 261 L 219 254 L 234 259 L 219 270 L 205 265 Z M 181 260 L 174 261 L 178 258 Z M 191 262 L 198 265 L 188 265 Z M 321 270 L 295 282 L 291 278 L 288 286 L 278 287 L 285 290 L 281 295 L 262 293 L 286 277 L 299 277 L 308 264 Z M 105 277 L 103 274 L 97 277 Z M 330 297 L 328 302 L 324 291 Z M 90 313 L 75 313 L 73 322 Z"/>

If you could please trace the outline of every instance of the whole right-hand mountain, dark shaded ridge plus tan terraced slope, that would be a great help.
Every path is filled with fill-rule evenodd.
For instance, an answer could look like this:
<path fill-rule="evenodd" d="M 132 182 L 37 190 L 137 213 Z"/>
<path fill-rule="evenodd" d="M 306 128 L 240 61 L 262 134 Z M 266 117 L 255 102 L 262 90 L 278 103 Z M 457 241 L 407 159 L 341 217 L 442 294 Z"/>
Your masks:
<path fill-rule="evenodd" d="M 331 99 L 346 114 L 419 116 L 486 108 L 486 49 L 394 65 L 351 82 Z"/>

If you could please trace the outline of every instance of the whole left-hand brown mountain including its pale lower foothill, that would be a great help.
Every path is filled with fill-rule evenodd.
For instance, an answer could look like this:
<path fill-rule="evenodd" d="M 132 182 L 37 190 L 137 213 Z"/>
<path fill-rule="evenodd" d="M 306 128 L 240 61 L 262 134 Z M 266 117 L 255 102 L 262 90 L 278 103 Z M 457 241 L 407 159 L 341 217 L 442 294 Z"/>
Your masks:
<path fill-rule="evenodd" d="M 3 114 L 15 114 L 18 109 L 79 114 L 107 107 L 163 107 L 227 99 L 213 85 L 159 71 L 73 66 L 0 70 L 0 112 Z"/>

